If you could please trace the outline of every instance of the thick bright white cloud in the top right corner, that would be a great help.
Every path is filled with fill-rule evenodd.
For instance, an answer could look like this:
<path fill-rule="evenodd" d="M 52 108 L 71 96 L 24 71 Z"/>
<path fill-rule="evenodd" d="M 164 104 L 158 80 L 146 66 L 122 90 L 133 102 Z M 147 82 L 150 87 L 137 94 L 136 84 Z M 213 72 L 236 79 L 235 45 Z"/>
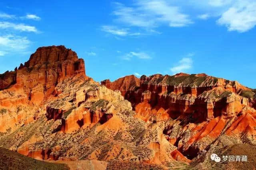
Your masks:
<path fill-rule="evenodd" d="M 194 4 L 192 2 L 195 2 Z M 217 18 L 216 23 L 228 31 L 246 32 L 256 25 L 255 0 L 191 0 L 190 5 Z M 201 19 L 206 16 L 198 16 Z"/>

